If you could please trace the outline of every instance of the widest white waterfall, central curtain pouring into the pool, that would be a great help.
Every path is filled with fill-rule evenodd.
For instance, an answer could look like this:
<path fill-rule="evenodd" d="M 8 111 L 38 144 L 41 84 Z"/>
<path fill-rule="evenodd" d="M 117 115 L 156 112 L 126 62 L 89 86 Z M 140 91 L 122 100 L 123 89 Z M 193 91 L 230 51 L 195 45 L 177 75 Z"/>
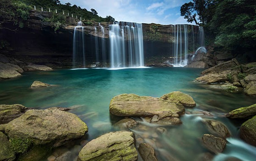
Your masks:
<path fill-rule="evenodd" d="M 109 25 L 111 68 L 142 67 L 142 24 L 120 22 Z"/>

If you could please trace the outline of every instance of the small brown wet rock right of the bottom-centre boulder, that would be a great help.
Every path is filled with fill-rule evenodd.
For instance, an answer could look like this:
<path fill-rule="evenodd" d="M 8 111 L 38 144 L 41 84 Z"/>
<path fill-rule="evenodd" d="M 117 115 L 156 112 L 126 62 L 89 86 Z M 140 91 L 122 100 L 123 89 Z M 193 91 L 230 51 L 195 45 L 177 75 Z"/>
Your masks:
<path fill-rule="evenodd" d="M 155 150 L 147 143 L 141 143 L 138 148 L 139 154 L 143 161 L 158 161 L 155 155 Z"/>

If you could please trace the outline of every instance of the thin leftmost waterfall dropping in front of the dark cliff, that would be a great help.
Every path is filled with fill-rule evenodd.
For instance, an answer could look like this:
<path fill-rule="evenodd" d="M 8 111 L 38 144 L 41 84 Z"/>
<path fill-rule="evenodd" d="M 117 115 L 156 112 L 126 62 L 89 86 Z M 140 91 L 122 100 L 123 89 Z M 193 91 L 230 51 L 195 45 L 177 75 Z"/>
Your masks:
<path fill-rule="evenodd" d="M 80 21 L 75 27 L 73 35 L 73 67 L 85 68 L 85 40 L 83 31 L 82 22 Z"/>

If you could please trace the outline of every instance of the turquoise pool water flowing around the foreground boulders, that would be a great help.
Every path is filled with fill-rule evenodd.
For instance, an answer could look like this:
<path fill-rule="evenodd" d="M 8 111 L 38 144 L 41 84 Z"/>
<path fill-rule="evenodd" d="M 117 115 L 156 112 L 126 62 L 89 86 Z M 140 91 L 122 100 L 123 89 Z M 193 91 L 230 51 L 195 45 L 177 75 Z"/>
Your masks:
<path fill-rule="evenodd" d="M 217 160 L 230 156 L 253 160 L 256 148 L 242 142 L 238 136 L 241 123 L 224 115 L 233 109 L 255 104 L 255 98 L 245 96 L 242 91 L 230 93 L 195 83 L 194 79 L 200 76 L 201 71 L 197 68 L 128 68 L 25 72 L 22 77 L 0 82 L 0 104 L 22 104 L 35 109 L 70 107 L 70 112 L 88 125 L 87 139 L 91 140 L 115 130 L 112 125 L 119 118 L 109 115 L 109 103 L 114 96 L 135 93 L 160 97 L 179 90 L 192 96 L 197 103 L 194 109 L 186 109 L 186 115 L 181 117 L 182 125 L 157 126 L 138 118 L 139 126 L 132 129 L 136 138 L 142 138 L 143 142 L 155 148 L 159 161 L 197 161 L 207 153 L 208 150 L 201 144 L 202 135 L 209 133 L 204 119 L 221 121 L 232 134 L 222 156 L 216 156 Z M 53 86 L 29 88 L 35 80 Z M 159 133 L 159 127 L 166 131 Z"/>

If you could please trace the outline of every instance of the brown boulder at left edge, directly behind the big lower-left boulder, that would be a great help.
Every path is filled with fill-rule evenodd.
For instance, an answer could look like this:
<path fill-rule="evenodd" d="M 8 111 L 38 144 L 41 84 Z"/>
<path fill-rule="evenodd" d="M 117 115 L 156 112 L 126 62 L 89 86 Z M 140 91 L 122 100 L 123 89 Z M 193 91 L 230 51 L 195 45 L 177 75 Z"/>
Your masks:
<path fill-rule="evenodd" d="M 21 104 L 0 104 L 0 124 L 8 123 L 23 115 L 26 109 L 28 108 Z"/>

